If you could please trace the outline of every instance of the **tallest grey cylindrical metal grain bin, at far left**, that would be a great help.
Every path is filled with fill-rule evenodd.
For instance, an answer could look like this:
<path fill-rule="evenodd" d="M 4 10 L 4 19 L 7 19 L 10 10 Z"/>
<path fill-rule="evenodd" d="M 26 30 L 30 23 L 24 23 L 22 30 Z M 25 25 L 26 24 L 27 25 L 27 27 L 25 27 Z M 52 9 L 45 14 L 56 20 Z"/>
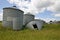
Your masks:
<path fill-rule="evenodd" d="M 19 30 L 23 25 L 23 11 L 14 7 L 3 8 L 3 26 L 11 26 Z"/>

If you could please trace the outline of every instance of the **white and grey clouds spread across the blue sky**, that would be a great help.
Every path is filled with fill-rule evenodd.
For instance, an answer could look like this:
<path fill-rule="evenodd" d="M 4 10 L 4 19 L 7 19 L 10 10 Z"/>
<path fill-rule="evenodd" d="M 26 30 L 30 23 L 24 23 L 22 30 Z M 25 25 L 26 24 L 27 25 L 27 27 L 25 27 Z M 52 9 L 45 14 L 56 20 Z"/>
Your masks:
<path fill-rule="evenodd" d="M 9 3 L 15 4 L 19 9 L 23 10 L 25 13 L 31 12 L 32 14 L 37 14 L 43 12 L 46 8 L 49 11 L 54 12 L 54 16 L 60 16 L 60 0 L 8 0 Z M 26 8 L 25 8 L 26 7 Z M 41 18 L 46 22 L 50 20 L 55 20 L 54 18 Z"/>

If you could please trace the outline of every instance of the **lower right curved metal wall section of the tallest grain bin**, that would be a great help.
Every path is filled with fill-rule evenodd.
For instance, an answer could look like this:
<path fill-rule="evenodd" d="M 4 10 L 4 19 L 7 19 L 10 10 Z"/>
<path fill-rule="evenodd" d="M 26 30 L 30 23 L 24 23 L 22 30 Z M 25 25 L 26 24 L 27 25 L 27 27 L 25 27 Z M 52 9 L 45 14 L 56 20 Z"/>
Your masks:
<path fill-rule="evenodd" d="M 23 28 L 22 17 L 17 17 L 13 19 L 13 30 L 21 30 Z"/>

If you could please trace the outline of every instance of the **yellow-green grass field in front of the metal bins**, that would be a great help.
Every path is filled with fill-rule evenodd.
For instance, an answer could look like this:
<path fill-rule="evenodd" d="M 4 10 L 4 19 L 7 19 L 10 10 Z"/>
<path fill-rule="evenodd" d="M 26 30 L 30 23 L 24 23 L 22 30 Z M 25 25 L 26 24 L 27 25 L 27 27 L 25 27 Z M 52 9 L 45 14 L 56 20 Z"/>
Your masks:
<path fill-rule="evenodd" d="M 42 30 L 13 31 L 0 22 L 0 40 L 60 40 L 60 24 L 45 24 Z"/>

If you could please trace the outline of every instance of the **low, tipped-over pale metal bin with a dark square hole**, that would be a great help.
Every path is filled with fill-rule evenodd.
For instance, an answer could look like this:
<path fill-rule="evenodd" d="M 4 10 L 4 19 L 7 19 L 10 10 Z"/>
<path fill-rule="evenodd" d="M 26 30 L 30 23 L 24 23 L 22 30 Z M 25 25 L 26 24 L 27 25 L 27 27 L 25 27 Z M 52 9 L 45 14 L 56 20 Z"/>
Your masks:
<path fill-rule="evenodd" d="M 34 21 L 29 22 L 26 27 L 31 30 L 41 30 L 43 26 L 43 21 L 35 19 Z"/>

